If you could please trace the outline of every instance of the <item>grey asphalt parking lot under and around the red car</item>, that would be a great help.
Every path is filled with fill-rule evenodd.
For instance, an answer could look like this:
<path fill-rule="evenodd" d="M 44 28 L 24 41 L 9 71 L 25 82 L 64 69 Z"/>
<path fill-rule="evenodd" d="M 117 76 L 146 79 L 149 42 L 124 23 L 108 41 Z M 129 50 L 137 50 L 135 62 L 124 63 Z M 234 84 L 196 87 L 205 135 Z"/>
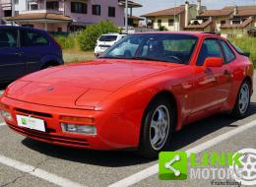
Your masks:
<path fill-rule="evenodd" d="M 172 151 L 201 148 L 200 146 L 207 141 L 218 139 L 219 136 L 255 121 L 256 94 L 253 94 L 251 101 L 249 114 L 242 120 L 216 115 L 187 126 L 174 135 Z M 2 122 L 0 119 L 0 124 Z M 256 149 L 255 134 L 256 126 L 237 133 L 216 145 L 206 147 L 205 150 L 208 153 L 222 153 L 224 151 L 236 152 L 244 148 Z M 17 135 L 5 125 L 0 125 L 0 187 L 56 186 L 59 184 L 63 186 L 108 186 L 157 163 L 158 160 L 143 159 L 130 152 L 83 151 L 38 143 Z M 139 175 L 138 178 L 141 176 Z M 159 180 L 155 172 L 152 174 L 146 172 L 146 175 L 149 176 L 137 178 L 137 182 L 132 184 L 134 186 L 213 186 L 211 179 L 163 182 Z M 126 183 L 120 184 L 124 186 Z"/>

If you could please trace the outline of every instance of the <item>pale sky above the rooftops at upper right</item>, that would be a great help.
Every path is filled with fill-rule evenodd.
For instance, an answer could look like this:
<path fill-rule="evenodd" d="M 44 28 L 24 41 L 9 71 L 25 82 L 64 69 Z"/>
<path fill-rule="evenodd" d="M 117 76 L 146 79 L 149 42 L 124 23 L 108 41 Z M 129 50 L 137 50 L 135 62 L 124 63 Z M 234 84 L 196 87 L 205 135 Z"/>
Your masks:
<path fill-rule="evenodd" d="M 133 9 L 133 14 L 141 16 L 145 13 L 167 9 L 174 6 L 174 0 L 135 0 L 143 5 L 143 8 Z M 175 0 L 175 4 L 184 4 L 186 0 Z M 189 0 L 190 3 L 196 3 L 197 0 Z M 256 0 L 202 0 L 202 5 L 208 9 L 219 9 L 224 6 L 236 5 L 253 5 Z"/>

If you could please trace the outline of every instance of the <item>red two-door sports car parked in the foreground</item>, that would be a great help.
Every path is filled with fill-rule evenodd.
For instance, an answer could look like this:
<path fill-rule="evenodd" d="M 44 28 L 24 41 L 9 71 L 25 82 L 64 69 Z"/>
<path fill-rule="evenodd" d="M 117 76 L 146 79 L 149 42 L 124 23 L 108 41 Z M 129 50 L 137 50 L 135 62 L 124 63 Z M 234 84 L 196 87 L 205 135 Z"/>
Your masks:
<path fill-rule="evenodd" d="M 188 123 L 223 111 L 244 117 L 252 78 L 247 55 L 221 36 L 137 33 L 91 62 L 14 82 L 1 113 L 11 129 L 37 141 L 154 157 Z"/>

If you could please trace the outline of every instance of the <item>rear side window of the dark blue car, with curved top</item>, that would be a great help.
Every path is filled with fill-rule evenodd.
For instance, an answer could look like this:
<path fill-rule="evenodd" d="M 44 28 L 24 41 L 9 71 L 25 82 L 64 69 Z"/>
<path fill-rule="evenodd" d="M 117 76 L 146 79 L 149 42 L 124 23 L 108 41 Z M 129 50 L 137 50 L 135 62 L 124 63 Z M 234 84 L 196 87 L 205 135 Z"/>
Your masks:
<path fill-rule="evenodd" d="M 21 45 L 23 47 L 49 44 L 47 38 L 37 31 L 21 31 L 21 33 Z"/>

